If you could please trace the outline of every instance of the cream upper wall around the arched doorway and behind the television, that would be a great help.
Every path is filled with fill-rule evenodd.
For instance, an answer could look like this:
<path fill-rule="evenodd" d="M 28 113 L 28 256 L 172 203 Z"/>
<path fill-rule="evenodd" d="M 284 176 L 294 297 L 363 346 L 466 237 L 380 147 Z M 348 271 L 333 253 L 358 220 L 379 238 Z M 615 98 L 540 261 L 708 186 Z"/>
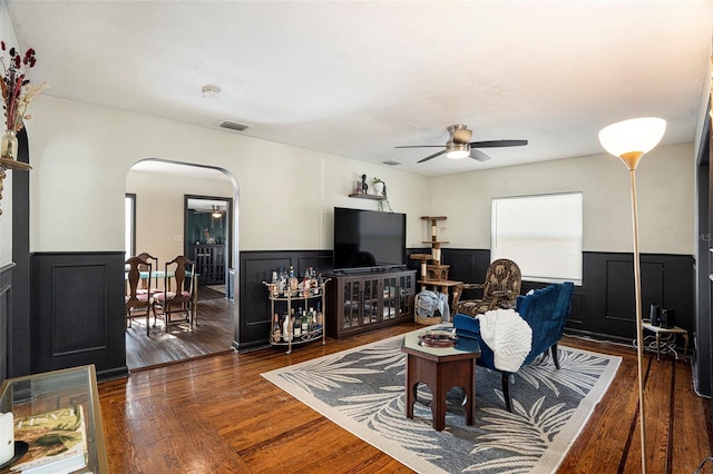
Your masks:
<path fill-rule="evenodd" d="M 123 250 L 127 174 L 147 158 L 225 169 L 240 189 L 242 250 L 332 248 L 334 206 L 375 208 L 348 197 L 361 174 L 387 181 L 393 210 L 409 215 L 407 245 L 423 238 L 428 179 L 393 168 L 50 96 L 28 134 L 31 251 Z"/>

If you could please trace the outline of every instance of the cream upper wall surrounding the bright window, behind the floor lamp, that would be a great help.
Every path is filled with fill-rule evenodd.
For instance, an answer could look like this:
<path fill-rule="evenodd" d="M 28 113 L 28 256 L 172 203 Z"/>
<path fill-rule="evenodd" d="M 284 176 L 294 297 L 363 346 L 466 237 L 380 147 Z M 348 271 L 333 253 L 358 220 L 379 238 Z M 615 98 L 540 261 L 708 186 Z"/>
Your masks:
<path fill-rule="evenodd" d="M 660 147 L 636 171 L 639 249 L 693 254 L 693 145 Z M 611 155 L 432 178 L 429 211 L 449 247 L 490 248 L 494 197 L 582 191 L 585 251 L 633 251 L 629 174 Z"/>

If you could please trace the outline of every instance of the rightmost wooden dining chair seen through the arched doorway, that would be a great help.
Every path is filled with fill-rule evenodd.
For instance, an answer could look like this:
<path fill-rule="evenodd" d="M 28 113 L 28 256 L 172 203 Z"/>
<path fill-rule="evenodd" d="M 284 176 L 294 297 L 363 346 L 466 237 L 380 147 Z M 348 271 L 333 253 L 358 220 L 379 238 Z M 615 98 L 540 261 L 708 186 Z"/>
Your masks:
<path fill-rule="evenodd" d="M 154 327 L 156 327 L 156 319 L 160 318 L 164 319 L 166 333 L 172 324 L 186 322 L 193 329 L 195 325 L 194 274 L 195 263 L 183 255 L 165 264 L 164 289 L 154 294 L 152 303 Z M 174 315 L 180 317 L 174 318 Z"/>

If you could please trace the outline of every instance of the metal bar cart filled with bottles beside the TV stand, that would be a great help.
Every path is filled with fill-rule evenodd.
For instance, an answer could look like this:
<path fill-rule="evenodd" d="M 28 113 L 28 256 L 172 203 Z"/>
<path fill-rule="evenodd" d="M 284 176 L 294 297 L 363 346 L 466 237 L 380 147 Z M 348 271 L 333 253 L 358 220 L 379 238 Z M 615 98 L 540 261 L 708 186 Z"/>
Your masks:
<path fill-rule="evenodd" d="M 270 345 L 271 346 L 284 346 L 287 348 L 286 354 L 292 353 L 292 346 L 311 343 L 313 340 L 322 339 L 322 345 L 326 343 L 326 318 L 325 303 L 326 295 L 325 288 L 329 279 L 322 280 L 318 286 L 304 289 L 286 289 L 279 290 L 276 285 L 267 284 L 270 292 L 270 314 L 272 318 L 270 329 Z M 293 317 L 299 315 L 297 308 L 304 312 L 314 309 L 309 323 L 300 324 L 300 327 L 295 323 Z M 284 313 L 282 313 L 284 310 Z M 285 317 L 289 319 L 289 324 L 285 326 Z"/>

